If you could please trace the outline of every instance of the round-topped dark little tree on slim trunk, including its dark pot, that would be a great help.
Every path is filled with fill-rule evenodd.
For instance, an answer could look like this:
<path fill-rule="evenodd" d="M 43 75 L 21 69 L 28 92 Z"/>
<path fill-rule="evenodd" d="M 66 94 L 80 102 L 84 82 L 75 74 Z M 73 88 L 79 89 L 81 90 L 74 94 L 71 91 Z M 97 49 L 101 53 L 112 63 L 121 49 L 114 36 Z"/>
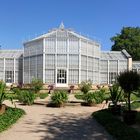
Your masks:
<path fill-rule="evenodd" d="M 137 111 L 131 110 L 131 93 L 140 87 L 140 75 L 134 71 L 124 71 L 118 76 L 118 82 L 127 96 L 128 109 L 123 113 L 123 120 L 127 124 L 134 124 L 136 121 Z"/>

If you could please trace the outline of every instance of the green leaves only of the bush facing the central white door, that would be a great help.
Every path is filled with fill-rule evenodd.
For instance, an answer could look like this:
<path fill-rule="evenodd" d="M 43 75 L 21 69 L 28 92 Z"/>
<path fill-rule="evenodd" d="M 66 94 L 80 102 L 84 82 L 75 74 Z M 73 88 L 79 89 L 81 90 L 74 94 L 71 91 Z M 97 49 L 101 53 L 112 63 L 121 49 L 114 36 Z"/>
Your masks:
<path fill-rule="evenodd" d="M 52 103 L 63 104 L 68 100 L 68 94 L 66 91 L 57 90 L 51 96 Z"/>

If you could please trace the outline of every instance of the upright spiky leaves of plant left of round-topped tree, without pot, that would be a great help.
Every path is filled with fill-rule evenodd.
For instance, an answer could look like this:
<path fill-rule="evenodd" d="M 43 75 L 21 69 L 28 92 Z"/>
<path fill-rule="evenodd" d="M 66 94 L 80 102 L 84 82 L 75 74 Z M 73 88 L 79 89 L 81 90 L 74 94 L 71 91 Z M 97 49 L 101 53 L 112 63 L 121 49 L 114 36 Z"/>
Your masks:
<path fill-rule="evenodd" d="M 122 96 L 122 89 L 118 84 L 114 84 L 113 86 L 109 87 L 110 99 L 112 103 L 117 106 L 117 103 Z"/>

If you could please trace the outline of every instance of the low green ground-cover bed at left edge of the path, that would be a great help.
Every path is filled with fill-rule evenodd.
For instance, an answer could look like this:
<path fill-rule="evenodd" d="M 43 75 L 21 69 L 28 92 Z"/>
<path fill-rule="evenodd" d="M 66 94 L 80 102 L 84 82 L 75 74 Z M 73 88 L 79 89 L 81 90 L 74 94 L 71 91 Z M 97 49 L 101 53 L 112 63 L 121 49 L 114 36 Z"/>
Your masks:
<path fill-rule="evenodd" d="M 8 129 L 24 114 L 25 111 L 22 109 L 8 107 L 6 112 L 0 115 L 0 132 Z"/>

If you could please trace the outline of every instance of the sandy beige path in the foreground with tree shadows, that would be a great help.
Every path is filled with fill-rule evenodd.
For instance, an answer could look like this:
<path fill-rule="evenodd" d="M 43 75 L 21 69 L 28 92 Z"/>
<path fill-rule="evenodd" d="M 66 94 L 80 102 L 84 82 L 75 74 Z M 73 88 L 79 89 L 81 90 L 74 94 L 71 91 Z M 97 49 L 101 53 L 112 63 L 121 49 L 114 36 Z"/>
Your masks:
<path fill-rule="evenodd" d="M 0 134 L 0 140 L 111 140 L 91 118 L 98 107 L 43 105 L 21 106 L 26 115 L 12 128 Z"/>

